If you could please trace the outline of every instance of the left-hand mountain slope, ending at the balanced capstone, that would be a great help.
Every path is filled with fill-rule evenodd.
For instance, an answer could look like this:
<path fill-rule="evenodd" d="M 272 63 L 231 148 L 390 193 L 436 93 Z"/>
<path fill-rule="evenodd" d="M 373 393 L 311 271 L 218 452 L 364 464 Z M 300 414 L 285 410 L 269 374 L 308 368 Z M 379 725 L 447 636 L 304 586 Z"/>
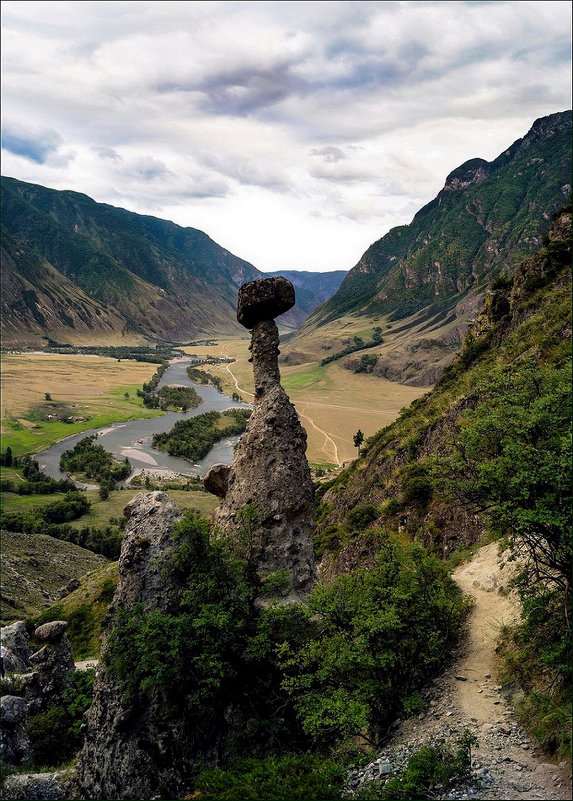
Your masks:
<path fill-rule="evenodd" d="M 3 178 L 2 220 L 11 235 L 3 268 L 12 293 L 28 280 L 26 267 L 35 255 L 97 301 L 100 313 L 103 307 L 104 315 L 120 315 L 127 333 L 172 340 L 199 332 L 231 333 L 239 328 L 238 287 L 261 277 L 202 231 L 96 203 L 77 192 Z M 43 291 L 36 278 L 35 289 Z M 74 295 L 71 300 L 73 306 Z M 86 323 L 101 330 L 95 309 Z M 68 316 L 59 321 L 73 335 L 73 313 Z M 28 323 L 33 319 L 30 312 Z M 3 321 L 7 335 L 19 324 L 11 306 L 4 309 Z"/>

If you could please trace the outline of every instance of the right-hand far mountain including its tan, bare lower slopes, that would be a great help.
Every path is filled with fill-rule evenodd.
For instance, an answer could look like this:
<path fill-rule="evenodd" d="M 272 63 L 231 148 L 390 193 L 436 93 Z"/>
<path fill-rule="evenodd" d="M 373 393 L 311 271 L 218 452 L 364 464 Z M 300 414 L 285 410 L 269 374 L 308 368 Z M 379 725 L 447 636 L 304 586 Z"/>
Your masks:
<path fill-rule="evenodd" d="M 537 120 L 493 162 L 472 159 L 454 170 L 410 225 L 366 251 L 289 347 L 309 361 L 320 358 L 316 343 L 358 320 L 384 333 L 384 344 L 370 352 L 377 356 L 374 374 L 434 382 L 459 348 L 487 282 L 535 252 L 570 193 L 568 111 Z"/>

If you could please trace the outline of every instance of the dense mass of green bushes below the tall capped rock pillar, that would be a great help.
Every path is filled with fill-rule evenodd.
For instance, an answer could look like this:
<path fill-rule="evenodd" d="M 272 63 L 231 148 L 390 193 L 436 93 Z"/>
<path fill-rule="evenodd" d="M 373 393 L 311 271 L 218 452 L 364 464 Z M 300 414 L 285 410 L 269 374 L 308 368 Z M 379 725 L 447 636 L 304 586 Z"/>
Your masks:
<path fill-rule="evenodd" d="M 377 742 L 456 641 L 466 604 L 447 569 L 378 532 L 371 568 L 318 587 L 308 603 L 273 603 L 272 577 L 261 585 L 253 569 L 249 531 L 247 521 L 237 548 L 187 514 L 165 567 L 181 586 L 179 604 L 122 610 L 108 670 L 129 703 L 159 694 L 185 709 L 195 736 L 225 732 L 226 765 L 249 754 L 335 753 L 355 737 Z M 261 594 L 266 603 L 254 604 Z"/>

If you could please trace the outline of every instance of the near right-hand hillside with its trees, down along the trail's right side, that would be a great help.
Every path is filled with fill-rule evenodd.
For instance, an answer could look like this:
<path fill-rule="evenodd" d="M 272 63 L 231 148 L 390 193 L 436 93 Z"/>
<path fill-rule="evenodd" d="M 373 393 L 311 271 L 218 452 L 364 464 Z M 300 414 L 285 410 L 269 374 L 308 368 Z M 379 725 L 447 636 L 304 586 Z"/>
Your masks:
<path fill-rule="evenodd" d="M 485 531 L 510 546 L 523 564 L 523 624 L 508 633 L 508 672 L 525 691 L 529 727 L 562 753 L 571 742 L 570 229 L 567 209 L 537 256 L 492 284 L 434 390 L 321 487 L 317 539 L 335 573 L 369 550 L 357 515 L 362 528 L 400 529 L 442 556 Z"/>

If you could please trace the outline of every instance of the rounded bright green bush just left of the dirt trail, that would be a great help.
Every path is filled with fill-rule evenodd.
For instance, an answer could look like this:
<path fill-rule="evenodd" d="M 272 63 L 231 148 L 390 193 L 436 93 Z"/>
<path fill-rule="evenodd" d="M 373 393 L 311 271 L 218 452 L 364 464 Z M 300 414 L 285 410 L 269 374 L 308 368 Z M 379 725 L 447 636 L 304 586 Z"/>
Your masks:
<path fill-rule="evenodd" d="M 387 538 L 374 568 L 317 587 L 302 613 L 300 644 L 278 648 L 283 687 L 303 730 L 333 743 L 378 738 L 442 664 L 465 603 L 439 560 Z"/>

